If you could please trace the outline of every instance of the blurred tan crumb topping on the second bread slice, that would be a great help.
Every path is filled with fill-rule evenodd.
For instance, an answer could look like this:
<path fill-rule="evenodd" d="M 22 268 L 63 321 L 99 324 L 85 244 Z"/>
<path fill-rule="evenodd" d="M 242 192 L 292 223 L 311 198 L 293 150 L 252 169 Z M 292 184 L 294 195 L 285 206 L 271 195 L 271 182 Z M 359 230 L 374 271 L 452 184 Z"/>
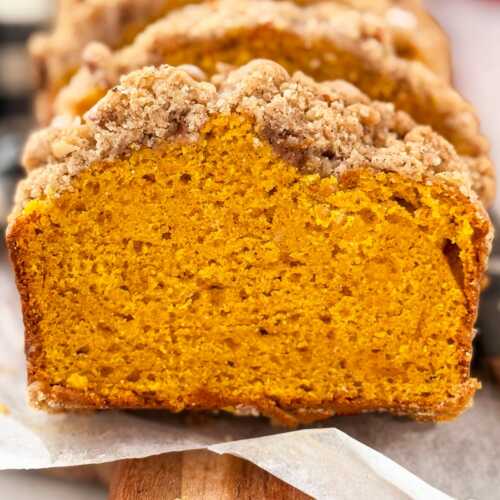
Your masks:
<path fill-rule="evenodd" d="M 258 26 L 273 26 L 305 39 L 327 37 L 359 57 L 377 60 L 394 54 L 390 31 L 380 17 L 335 2 L 309 7 L 269 0 L 188 5 L 151 24 L 131 45 L 116 52 L 101 43 L 90 43 L 83 52 L 82 68 L 56 99 L 56 113 L 71 113 L 73 101 L 89 89 L 109 88 L 123 74 L 164 63 L 158 47 L 174 50 L 194 41 L 222 38 Z"/>

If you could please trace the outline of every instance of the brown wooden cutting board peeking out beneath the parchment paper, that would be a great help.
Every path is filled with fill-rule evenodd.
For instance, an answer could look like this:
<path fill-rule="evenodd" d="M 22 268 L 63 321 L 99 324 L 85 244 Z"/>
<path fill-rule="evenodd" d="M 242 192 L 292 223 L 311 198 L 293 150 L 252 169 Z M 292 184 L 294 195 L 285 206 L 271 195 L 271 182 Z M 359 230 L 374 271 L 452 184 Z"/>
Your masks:
<path fill-rule="evenodd" d="M 254 464 L 208 451 L 118 462 L 104 474 L 110 500 L 305 500 Z"/>

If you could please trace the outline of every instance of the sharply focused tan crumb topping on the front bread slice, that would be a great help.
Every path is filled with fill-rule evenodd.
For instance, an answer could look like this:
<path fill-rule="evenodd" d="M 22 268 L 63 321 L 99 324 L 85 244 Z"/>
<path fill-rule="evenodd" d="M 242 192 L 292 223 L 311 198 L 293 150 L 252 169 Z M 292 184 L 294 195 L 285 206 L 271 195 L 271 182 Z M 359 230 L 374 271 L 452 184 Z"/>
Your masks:
<path fill-rule="evenodd" d="M 196 141 L 210 116 L 229 113 L 254 120 L 258 134 L 301 171 L 340 175 L 370 166 L 439 178 L 476 199 L 467 166 L 447 141 L 346 82 L 290 76 L 266 60 L 214 82 L 171 66 L 147 67 L 123 77 L 83 119 L 60 119 L 34 134 L 29 149 L 44 166 L 20 184 L 12 217 L 31 199 L 70 189 L 71 178 L 93 162 L 160 141 Z"/>

